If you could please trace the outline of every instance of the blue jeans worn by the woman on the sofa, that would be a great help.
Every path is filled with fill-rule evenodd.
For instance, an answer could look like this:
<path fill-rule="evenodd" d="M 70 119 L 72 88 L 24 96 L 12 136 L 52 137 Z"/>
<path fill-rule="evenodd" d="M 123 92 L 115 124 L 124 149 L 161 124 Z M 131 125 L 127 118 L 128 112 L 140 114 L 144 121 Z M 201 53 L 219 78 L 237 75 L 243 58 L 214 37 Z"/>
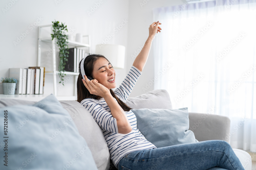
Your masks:
<path fill-rule="evenodd" d="M 244 170 L 229 143 L 222 140 L 133 151 L 117 164 L 119 170 L 206 170 L 212 167 Z"/>

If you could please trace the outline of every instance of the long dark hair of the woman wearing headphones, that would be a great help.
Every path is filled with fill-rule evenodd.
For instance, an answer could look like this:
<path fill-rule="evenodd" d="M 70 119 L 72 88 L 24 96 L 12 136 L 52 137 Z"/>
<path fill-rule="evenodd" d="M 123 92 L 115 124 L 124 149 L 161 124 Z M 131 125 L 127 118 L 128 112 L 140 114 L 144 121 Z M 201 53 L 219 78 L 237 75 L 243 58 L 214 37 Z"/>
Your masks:
<path fill-rule="evenodd" d="M 100 55 L 100 54 L 91 54 L 85 58 L 83 68 L 84 68 L 84 72 L 85 72 L 86 76 L 91 76 L 93 78 L 93 76 L 92 76 L 93 68 L 94 68 L 95 62 L 100 57 L 103 57 L 106 59 L 106 57 L 104 57 L 103 55 Z M 108 59 L 106 59 L 106 60 L 109 62 Z M 79 63 L 79 75 L 78 75 L 78 79 L 77 79 L 77 101 L 80 103 L 83 99 L 86 99 L 86 98 L 93 98 L 93 99 L 99 100 L 101 98 L 101 96 L 90 94 L 89 90 L 84 86 L 84 84 L 82 82 L 83 77 L 82 77 L 81 68 L 80 68 L 81 61 Z M 121 106 L 121 108 L 124 111 L 130 111 L 132 109 L 129 106 L 127 106 L 122 100 L 120 100 L 118 97 L 116 97 L 116 95 L 112 89 L 110 89 L 110 94 L 116 99 L 116 101 L 118 102 L 118 104 Z"/>

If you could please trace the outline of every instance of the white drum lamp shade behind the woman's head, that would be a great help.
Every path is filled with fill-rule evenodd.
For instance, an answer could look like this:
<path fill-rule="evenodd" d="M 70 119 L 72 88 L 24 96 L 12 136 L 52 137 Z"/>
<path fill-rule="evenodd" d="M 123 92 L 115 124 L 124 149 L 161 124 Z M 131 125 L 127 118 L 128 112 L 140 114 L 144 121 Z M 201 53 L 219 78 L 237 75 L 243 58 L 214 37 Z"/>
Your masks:
<path fill-rule="evenodd" d="M 114 68 L 124 68 L 125 46 L 117 44 L 98 44 L 96 45 L 95 53 L 105 56 Z"/>

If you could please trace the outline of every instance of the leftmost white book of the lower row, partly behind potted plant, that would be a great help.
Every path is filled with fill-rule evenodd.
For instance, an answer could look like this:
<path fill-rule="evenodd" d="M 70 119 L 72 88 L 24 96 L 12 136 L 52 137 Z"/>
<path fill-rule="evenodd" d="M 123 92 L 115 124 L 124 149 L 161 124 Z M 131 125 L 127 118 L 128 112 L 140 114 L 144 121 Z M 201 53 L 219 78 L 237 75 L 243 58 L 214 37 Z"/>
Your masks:
<path fill-rule="evenodd" d="M 22 94 L 23 69 L 9 68 L 9 77 L 17 79 L 15 94 Z"/>

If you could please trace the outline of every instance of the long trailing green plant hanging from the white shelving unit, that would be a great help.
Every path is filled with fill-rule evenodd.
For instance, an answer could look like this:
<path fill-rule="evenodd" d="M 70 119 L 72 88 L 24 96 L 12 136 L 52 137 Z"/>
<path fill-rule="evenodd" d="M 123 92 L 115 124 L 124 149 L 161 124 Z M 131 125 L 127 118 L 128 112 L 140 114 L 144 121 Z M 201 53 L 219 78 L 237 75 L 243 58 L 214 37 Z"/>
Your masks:
<path fill-rule="evenodd" d="M 52 40 L 54 38 L 57 39 L 57 44 L 58 44 L 58 47 L 59 47 L 59 50 L 60 50 L 60 53 L 59 53 L 59 57 L 60 57 L 60 62 L 59 62 L 59 66 L 58 66 L 58 69 L 59 69 L 59 77 L 60 77 L 60 82 L 62 82 L 62 85 L 64 86 L 64 74 L 63 72 L 65 72 L 64 68 L 65 68 L 65 65 L 66 65 L 66 62 L 68 61 L 68 55 L 69 55 L 69 52 L 68 52 L 68 36 L 67 34 L 65 33 L 65 31 L 68 32 L 68 29 L 67 29 L 67 25 L 64 25 L 62 22 L 61 24 L 59 24 L 59 21 L 56 21 L 53 22 L 52 21 L 52 27 L 53 27 L 53 34 L 51 34 L 51 37 L 52 37 Z M 63 75 L 64 74 L 64 75 Z"/>

